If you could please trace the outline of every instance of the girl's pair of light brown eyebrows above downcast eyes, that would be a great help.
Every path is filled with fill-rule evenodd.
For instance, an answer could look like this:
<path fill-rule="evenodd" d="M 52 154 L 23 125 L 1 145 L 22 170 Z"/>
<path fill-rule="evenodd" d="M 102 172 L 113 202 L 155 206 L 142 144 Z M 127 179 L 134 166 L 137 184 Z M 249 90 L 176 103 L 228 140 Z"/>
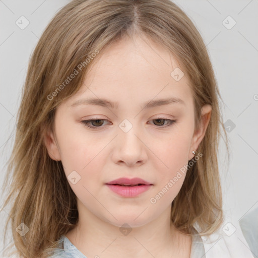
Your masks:
<path fill-rule="evenodd" d="M 98 105 L 103 107 L 110 107 L 113 109 L 118 108 L 118 102 L 111 102 L 107 99 L 99 99 L 99 98 L 89 98 L 89 99 L 80 99 L 74 102 L 71 107 L 75 107 L 78 105 Z M 158 100 L 150 100 L 144 103 L 144 108 L 151 108 L 157 106 L 163 106 L 168 104 L 182 104 L 185 105 L 184 101 L 179 98 L 166 98 L 166 99 L 158 99 Z"/>

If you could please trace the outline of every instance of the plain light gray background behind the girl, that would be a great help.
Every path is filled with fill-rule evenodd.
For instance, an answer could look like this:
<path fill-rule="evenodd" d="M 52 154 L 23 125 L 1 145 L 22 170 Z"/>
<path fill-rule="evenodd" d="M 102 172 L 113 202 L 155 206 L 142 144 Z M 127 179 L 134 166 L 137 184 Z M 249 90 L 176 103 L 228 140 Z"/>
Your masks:
<path fill-rule="evenodd" d="M 68 0 L 0 0 L 2 178 L 6 173 L 4 165 L 11 154 L 15 139 L 16 113 L 29 57 L 50 19 L 69 2 Z M 222 107 L 224 122 L 230 119 L 235 124 L 235 128 L 232 130 L 231 127 L 231 132 L 227 133 L 231 155 L 229 167 L 226 164 L 223 143 L 219 153 L 219 166 L 224 192 L 224 209 L 229 210 L 232 216 L 239 220 L 258 206 L 258 1 L 174 2 L 183 9 L 201 32 L 225 102 L 225 107 Z M 21 16 L 29 20 L 29 25 L 23 30 L 16 25 Z M 227 26 L 233 24 L 233 20 L 228 19 L 228 16 L 236 22 L 231 29 L 223 25 L 223 23 L 228 23 Z M 3 200 L 0 200 L 0 205 L 2 204 Z M 5 212 L 0 214 L 1 221 L 7 216 L 8 210 L 5 209 Z M 4 223 L 1 223 L 0 228 L 3 232 Z M 1 254 L 1 250 L 6 246 L 2 243 L 2 235 L 0 239 Z"/>

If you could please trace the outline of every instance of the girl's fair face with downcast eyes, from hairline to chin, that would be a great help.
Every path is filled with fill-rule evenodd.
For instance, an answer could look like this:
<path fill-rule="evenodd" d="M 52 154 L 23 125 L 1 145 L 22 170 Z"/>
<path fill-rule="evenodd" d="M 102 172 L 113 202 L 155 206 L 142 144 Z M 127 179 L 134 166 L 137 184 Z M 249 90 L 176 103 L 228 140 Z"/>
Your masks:
<path fill-rule="evenodd" d="M 93 64 L 80 91 L 58 106 L 45 143 L 49 156 L 62 162 L 79 214 L 136 227 L 170 212 L 185 178 L 178 171 L 204 136 L 195 132 L 190 82 L 186 73 L 175 80 L 175 68 L 179 63 L 147 39 L 120 41 Z M 113 106 L 83 102 L 90 98 Z M 177 101 L 155 102 L 169 98 Z M 121 177 L 152 185 L 137 196 L 120 196 L 106 183 Z"/>

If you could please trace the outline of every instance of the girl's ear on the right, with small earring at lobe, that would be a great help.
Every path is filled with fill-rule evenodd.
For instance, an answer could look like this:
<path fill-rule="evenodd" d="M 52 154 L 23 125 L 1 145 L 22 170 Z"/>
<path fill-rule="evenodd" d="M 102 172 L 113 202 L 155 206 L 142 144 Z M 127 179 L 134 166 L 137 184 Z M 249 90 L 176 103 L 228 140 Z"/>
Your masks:
<path fill-rule="evenodd" d="M 202 107 L 200 127 L 195 131 L 195 133 L 192 136 L 188 160 L 195 157 L 195 155 L 192 153 L 192 151 L 197 150 L 200 143 L 202 142 L 202 140 L 205 136 L 206 129 L 207 129 L 208 124 L 211 119 L 211 113 L 212 113 L 211 105 L 207 104 Z"/>

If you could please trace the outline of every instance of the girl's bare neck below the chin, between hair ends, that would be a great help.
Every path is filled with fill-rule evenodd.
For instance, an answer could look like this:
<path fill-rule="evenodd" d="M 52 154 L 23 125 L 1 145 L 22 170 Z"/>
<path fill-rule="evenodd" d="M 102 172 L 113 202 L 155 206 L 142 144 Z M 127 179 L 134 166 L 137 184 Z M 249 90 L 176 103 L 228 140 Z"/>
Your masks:
<path fill-rule="evenodd" d="M 176 230 L 167 214 L 142 226 L 119 227 L 89 213 L 66 236 L 87 257 L 189 257 L 190 236 Z"/>

